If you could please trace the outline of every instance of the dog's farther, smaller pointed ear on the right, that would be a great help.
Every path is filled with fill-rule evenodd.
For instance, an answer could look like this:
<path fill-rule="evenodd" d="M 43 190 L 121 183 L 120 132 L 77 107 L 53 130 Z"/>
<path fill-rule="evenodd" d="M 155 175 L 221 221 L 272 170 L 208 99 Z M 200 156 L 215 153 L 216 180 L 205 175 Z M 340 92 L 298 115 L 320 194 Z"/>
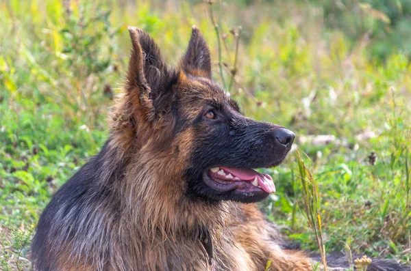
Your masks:
<path fill-rule="evenodd" d="M 180 66 L 186 74 L 212 78 L 210 48 L 195 25 L 192 26 L 190 42 Z"/>

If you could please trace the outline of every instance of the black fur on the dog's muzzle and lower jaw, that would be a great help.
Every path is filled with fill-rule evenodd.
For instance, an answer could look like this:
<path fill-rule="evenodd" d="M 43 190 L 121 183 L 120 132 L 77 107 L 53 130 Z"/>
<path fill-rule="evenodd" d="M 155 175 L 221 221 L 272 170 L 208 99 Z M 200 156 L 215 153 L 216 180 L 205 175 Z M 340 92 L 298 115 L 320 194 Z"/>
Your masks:
<path fill-rule="evenodd" d="M 220 95 L 224 94 L 220 92 Z M 227 96 L 224 100 L 225 102 L 221 104 L 210 102 L 208 106 L 204 106 L 203 112 L 192 124 L 195 129 L 195 144 L 190 167 L 186 173 L 188 193 L 211 202 L 261 201 L 269 195 L 262 189 L 253 191 L 213 189 L 208 185 L 209 182 L 213 182 L 210 169 L 275 167 L 286 158 L 294 135 L 281 126 L 249 119 L 241 115 L 238 108 L 233 106 L 235 102 Z M 212 112 L 214 119 L 207 117 L 209 112 Z M 281 138 L 284 134 L 289 136 L 289 141 L 286 143 Z"/>

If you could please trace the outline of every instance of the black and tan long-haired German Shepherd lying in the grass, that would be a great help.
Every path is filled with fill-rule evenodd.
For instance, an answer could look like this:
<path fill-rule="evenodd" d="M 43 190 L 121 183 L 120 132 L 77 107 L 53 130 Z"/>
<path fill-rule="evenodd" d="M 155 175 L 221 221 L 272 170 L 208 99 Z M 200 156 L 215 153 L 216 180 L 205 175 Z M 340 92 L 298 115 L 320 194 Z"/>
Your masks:
<path fill-rule="evenodd" d="M 56 192 L 32 243 L 34 270 L 312 270 L 256 203 L 295 135 L 244 117 L 212 80 L 197 27 L 177 68 L 129 27 L 123 97 L 101 152 Z M 343 262 L 343 260 L 339 260 Z M 336 261 L 337 262 L 337 261 Z M 369 270 L 408 270 L 374 261 Z"/>

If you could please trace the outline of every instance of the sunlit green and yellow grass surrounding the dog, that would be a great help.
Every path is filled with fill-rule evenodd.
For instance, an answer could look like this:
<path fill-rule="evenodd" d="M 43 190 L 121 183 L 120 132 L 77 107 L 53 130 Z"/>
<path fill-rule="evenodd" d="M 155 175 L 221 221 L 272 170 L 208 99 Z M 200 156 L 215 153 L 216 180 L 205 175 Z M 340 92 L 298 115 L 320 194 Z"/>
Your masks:
<path fill-rule="evenodd" d="M 0 1 L 3 270 L 28 269 L 42 209 L 105 141 L 105 115 L 128 59 L 127 25 L 148 31 L 169 63 L 177 63 L 197 25 L 210 44 L 215 79 L 223 76 L 242 111 L 296 132 L 308 157 L 291 154 L 268 169 L 277 193 L 262 203 L 292 240 L 317 251 L 319 235 L 307 218 L 318 229 L 321 216 L 324 251 L 348 246 L 353 254 L 411 263 L 406 52 L 390 47 L 384 61 L 374 57 L 377 37 L 347 35 L 327 24 L 325 8 L 306 1 L 216 1 L 215 23 L 208 3 L 63 3 Z M 341 22 L 350 14 L 343 11 Z M 379 25 L 373 14 L 361 13 L 367 25 Z M 309 175 L 301 174 L 305 168 Z M 310 190 L 299 189 L 306 177 L 316 183 L 308 214 L 304 202 L 314 198 L 301 201 Z"/>

